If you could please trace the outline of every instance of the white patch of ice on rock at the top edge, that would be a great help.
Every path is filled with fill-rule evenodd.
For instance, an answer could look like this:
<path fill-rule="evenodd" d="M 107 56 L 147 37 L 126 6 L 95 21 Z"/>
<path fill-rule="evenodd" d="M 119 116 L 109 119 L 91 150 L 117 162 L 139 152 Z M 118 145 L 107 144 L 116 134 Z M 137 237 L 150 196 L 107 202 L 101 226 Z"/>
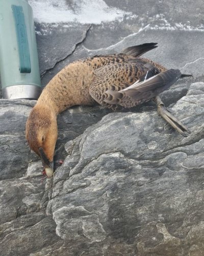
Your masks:
<path fill-rule="evenodd" d="M 103 0 L 29 0 L 39 23 L 101 24 L 122 20 L 132 13 L 109 7 Z"/>

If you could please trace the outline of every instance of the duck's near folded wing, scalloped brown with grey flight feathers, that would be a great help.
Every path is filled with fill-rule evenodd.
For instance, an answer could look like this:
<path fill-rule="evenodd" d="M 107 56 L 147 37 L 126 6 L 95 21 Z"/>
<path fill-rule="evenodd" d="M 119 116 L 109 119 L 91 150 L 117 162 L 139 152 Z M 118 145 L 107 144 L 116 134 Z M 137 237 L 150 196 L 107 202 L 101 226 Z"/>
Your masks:
<path fill-rule="evenodd" d="M 115 109 L 117 105 L 131 108 L 167 90 L 181 77 L 179 70 L 159 70 L 151 63 L 111 63 L 94 72 L 91 97 L 101 105 Z"/>

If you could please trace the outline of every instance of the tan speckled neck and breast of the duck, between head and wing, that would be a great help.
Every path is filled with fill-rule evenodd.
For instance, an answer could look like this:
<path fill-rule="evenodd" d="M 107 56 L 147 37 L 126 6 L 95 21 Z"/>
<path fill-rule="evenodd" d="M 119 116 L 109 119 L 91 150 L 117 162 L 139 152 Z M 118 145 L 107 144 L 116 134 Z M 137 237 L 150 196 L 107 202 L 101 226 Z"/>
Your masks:
<path fill-rule="evenodd" d="M 71 63 L 53 77 L 42 91 L 38 104 L 47 105 L 56 115 L 73 105 L 93 105 L 89 84 L 94 74 L 83 62 Z"/>

